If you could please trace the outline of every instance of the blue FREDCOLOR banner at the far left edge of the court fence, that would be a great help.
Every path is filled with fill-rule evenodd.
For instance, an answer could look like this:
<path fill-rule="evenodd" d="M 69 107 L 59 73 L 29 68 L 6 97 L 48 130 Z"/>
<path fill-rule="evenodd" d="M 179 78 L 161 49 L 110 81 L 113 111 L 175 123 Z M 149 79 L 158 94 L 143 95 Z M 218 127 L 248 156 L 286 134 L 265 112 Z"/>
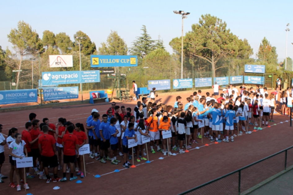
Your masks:
<path fill-rule="evenodd" d="M 0 91 L 0 104 L 37 102 L 37 89 Z"/>

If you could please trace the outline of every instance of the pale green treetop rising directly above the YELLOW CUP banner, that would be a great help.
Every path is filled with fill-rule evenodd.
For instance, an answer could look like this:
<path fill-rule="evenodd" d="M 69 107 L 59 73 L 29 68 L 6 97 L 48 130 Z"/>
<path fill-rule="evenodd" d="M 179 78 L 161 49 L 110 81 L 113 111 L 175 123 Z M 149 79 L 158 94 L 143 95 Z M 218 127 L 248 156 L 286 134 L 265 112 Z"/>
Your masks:
<path fill-rule="evenodd" d="M 98 48 L 98 54 L 100 55 L 127 55 L 127 44 L 122 39 L 117 31 L 112 31 L 107 37 L 107 41 L 101 43 L 101 47 Z"/>

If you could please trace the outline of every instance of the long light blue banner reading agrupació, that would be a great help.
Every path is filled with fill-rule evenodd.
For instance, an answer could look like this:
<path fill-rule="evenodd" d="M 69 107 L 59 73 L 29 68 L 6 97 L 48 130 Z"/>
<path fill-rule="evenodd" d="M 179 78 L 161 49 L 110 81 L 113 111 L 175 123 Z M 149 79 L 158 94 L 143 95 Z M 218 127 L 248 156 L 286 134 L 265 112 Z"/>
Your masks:
<path fill-rule="evenodd" d="M 100 71 L 42 72 L 42 86 L 100 82 Z"/>

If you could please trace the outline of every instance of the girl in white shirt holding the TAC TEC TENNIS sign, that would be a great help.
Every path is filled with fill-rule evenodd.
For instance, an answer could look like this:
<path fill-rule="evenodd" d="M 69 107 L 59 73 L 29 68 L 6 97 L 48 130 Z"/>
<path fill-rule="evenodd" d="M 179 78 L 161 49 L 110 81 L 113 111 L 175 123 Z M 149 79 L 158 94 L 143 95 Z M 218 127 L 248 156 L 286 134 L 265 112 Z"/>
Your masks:
<path fill-rule="evenodd" d="M 17 191 L 21 190 L 20 186 L 20 175 L 23 175 L 22 169 L 23 168 L 16 168 L 16 158 L 24 158 L 28 157 L 28 151 L 26 147 L 24 147 L 25 142 L 21 140 L 21 134 L 15 134 L 15 141 L 11 142 L 9 145 L 9 155 L 12 156 L 11 165 L 14 166 L 15 174 L 16 174 L 16 182 Z M 25 154 L 24 154 L 25 153 Z M 28 184 L 24 184 L 24 188 L 29 189 Z"/>

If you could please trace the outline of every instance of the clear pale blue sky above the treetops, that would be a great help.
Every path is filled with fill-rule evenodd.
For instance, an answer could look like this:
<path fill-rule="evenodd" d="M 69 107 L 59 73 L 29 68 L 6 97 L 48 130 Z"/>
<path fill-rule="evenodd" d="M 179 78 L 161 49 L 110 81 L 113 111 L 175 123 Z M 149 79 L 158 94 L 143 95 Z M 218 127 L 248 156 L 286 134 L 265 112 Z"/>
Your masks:
<path fill-rule="evenodd" d="M 288 33 L 288 54 L 293 57 L 293 7 L 292 0 L 209 0 L 209 1 L 19 1 L 2 0 L 0 6 L 0 45 L 11 47 L 7 34 L 17 22 L 24 20 L 42 37 L 44 30 L 55 34 L 65 32 L 73 40 L 78 30 L 85 32 L 99 47 L 106 41 L 111 30 L 115 30 L 131 46 L 140 36 L 142 25 L 146 25 L 152 39 L 160 35 L 166 49 L 172 53 L 169 41 L 181 36 L 180 15 L 173 10 L 184 10 L 191 14 L 184 20 L 184 32 L 198 23 L 203 14 L 211 14 L 226 21 L 231 32 L 239 38 L 246 38 L 255 54 L 260 41 L 267 37 L 277 47 L 279 60 L 285 58 L 286 24 L 291 23 Z"/>

